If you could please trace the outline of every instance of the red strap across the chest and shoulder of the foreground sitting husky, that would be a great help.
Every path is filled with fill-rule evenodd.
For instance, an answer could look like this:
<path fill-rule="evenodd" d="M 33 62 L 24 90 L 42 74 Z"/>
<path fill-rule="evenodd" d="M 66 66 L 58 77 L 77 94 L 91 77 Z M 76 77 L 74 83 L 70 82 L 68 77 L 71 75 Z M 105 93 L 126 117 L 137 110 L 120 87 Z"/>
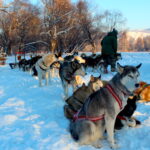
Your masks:
<path fill-rule="evenodd" d="M 117 101 L 117 103 L 120 107 L 120 110 L 121 110 L 122 109 L 122 100 L 120 99 L 120 97 L 117 95 L 117 93 L 114 91 L 114 89 L 112 88 L 112 86 L 110 84 L 107 84 L 106 88 L 112 94 L 112 96 L 115 98 L 115 100 Z"/>

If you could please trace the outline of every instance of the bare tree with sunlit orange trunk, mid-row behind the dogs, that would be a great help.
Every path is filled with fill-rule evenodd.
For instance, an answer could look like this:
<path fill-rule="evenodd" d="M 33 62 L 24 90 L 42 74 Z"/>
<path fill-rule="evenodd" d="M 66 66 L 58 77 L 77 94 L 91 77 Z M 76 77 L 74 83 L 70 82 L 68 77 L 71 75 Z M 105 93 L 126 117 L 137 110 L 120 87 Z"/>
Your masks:
<path fill-rule="evenodd" d="M 69 0 L 42 0 L 44 4 L 44 18 L 41 35 L 49 43 L 49 50 L 54 52 L 63 49 L 61 35 L 67 34 L 72 28 L 72 5 Z"/>

